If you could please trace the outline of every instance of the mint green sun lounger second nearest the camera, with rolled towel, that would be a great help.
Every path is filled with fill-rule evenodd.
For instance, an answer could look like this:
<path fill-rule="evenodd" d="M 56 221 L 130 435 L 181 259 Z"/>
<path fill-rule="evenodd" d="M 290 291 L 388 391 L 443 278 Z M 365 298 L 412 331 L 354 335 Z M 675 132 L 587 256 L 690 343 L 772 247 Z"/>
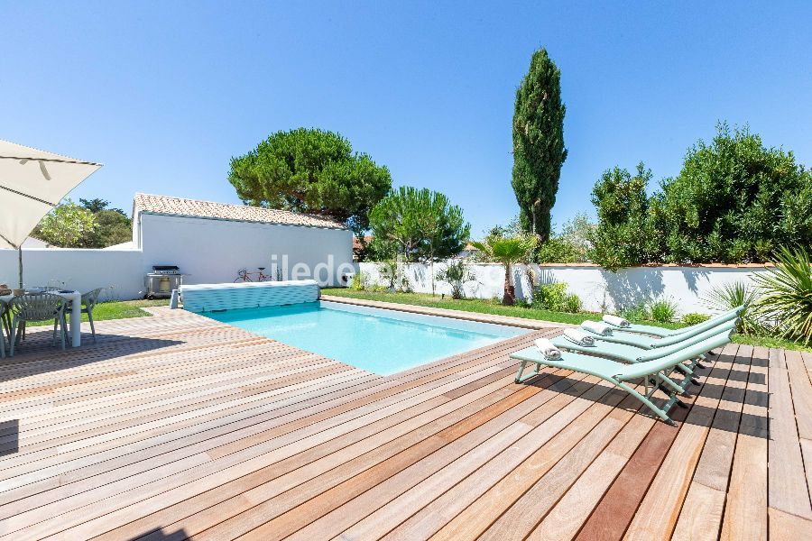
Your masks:
<path fill-rule="evenodd" d="M 601 357 L 608 357 L 621 362 L 644 362 L 660 359 L 671 353 L 678 353 L 685 348 L 698 344 L 708 338 L 714 338 L 715 335 L 730 335 L 736 326 L 736 319 L 728 321 L 720 326 L 706 330 L 704 333 L 698 335 L 687 336 L 677 344 L 666 345 L 653 349 L 641 349 L 627 344 L 616 344 L 614 342 L 604 342 L 604 336 L 595 335 L 594 345 L 576 344 L 567 339 L 564 335 L 558 335 L 552 339 L 553 345 L 558 349 L 566 349 L 577 353 L 586 353 L 588 355 L 598 355 Z M 693 376 L 694 368 L 697 363 L 703 358 L 703 355 L 697 355 L 690 362 L 681 363 L 676 365 L 679 371 L 682 371 L 687 376 Z"/>

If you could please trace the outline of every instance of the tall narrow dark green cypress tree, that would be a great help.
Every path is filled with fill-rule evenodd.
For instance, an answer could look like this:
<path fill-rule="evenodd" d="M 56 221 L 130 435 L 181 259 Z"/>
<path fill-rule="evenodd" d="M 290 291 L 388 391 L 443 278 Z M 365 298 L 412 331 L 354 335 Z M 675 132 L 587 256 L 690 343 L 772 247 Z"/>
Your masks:
<path fill-rule="evenodd" d="M 550 209 L 556 202 L 564 148 L 561 72 L 547 50 L 533 53 L 530 70 L 516 90 L 513 112 L 512 186 L 525 231 L 549 239 Z"/>

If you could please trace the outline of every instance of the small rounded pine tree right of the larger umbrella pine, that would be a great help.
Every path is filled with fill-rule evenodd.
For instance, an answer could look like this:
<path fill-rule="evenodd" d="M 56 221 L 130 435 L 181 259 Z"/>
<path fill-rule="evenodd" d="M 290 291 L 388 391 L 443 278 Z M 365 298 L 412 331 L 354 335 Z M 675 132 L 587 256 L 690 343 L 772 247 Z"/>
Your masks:
<path fill-rule="evenodd" d="M 428 188 L 401 186 L 375 205 L 370 213 L 373 251 L 384 258 L 437 261 L 457 255 L 465 247 L 471 226 L 462 209 L 445 195 Z"/>

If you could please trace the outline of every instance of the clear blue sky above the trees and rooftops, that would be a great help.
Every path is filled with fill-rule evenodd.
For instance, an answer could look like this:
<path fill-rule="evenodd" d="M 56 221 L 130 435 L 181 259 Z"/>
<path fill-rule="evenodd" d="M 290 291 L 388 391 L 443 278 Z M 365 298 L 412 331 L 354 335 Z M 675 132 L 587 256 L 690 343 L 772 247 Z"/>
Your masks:
<path fill-rule="evenodd" d="M 812 166 L 812 3 L 0 0 L 0 138 L 105 167 L 72 197 L 238 202 L 228 160 L 270 133 L 343 133 L 474 234 L 517 212 L 515 88 L 546 47 L 567 104 L 558 224 L 601 171 L 677 174 L 717 120 Z M 711 5 L 713 4 L 713 5 Z"/>

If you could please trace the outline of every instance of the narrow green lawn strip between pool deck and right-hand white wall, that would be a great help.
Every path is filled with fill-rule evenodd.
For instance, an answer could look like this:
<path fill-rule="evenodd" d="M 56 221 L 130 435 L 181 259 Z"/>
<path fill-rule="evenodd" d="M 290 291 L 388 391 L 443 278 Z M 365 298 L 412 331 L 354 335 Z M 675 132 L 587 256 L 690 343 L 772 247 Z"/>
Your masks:
<path fill-rule="evenodd" d="M 501 304 L 499 304 L 498 300 L 482 298 L 464 298 L 455 300 L 449 297 L 441 298 L 436 295 L 430 295 L 429 293 L 356 291 L 355 289 L 346 288 L 326 288 L 322 289 L 322 292 L 325 295 L 334 295 L 336 297 L 364 298 L 366 300 L 397 302 L 419 307 L 448 308 L 451 310 L 463 310 L 465 312 L 477 312 L 480 314 L 494 314 L 496 316 L 524 317 L 527 319 L 538 319 L 540 321 L 549 321 L 552 323 L 568 323 L 571 325 L 579 325 L 581 322 L 586 321 L 587 319 L 599 321 L 601 318 L 600 314 L 589 312 L 566 314 L 563 312 L 551 312 L 549 310 L 542 310 L 539 308 L 503 307 Z M 663 326 L 670 329 L 677 329 L 684 326 L 679 323 L 657 323 L 653 321 L 640 320 L 635 321 L 634 323 Z M 812 351 L 812 349 L 805 347 L 803 344 L 781 338 L 774 338 L 771 336 L 734 335 L 734 342 L 738 344 L 763 345 L 765 347 L 782 347 L 784 349 Z"/>

